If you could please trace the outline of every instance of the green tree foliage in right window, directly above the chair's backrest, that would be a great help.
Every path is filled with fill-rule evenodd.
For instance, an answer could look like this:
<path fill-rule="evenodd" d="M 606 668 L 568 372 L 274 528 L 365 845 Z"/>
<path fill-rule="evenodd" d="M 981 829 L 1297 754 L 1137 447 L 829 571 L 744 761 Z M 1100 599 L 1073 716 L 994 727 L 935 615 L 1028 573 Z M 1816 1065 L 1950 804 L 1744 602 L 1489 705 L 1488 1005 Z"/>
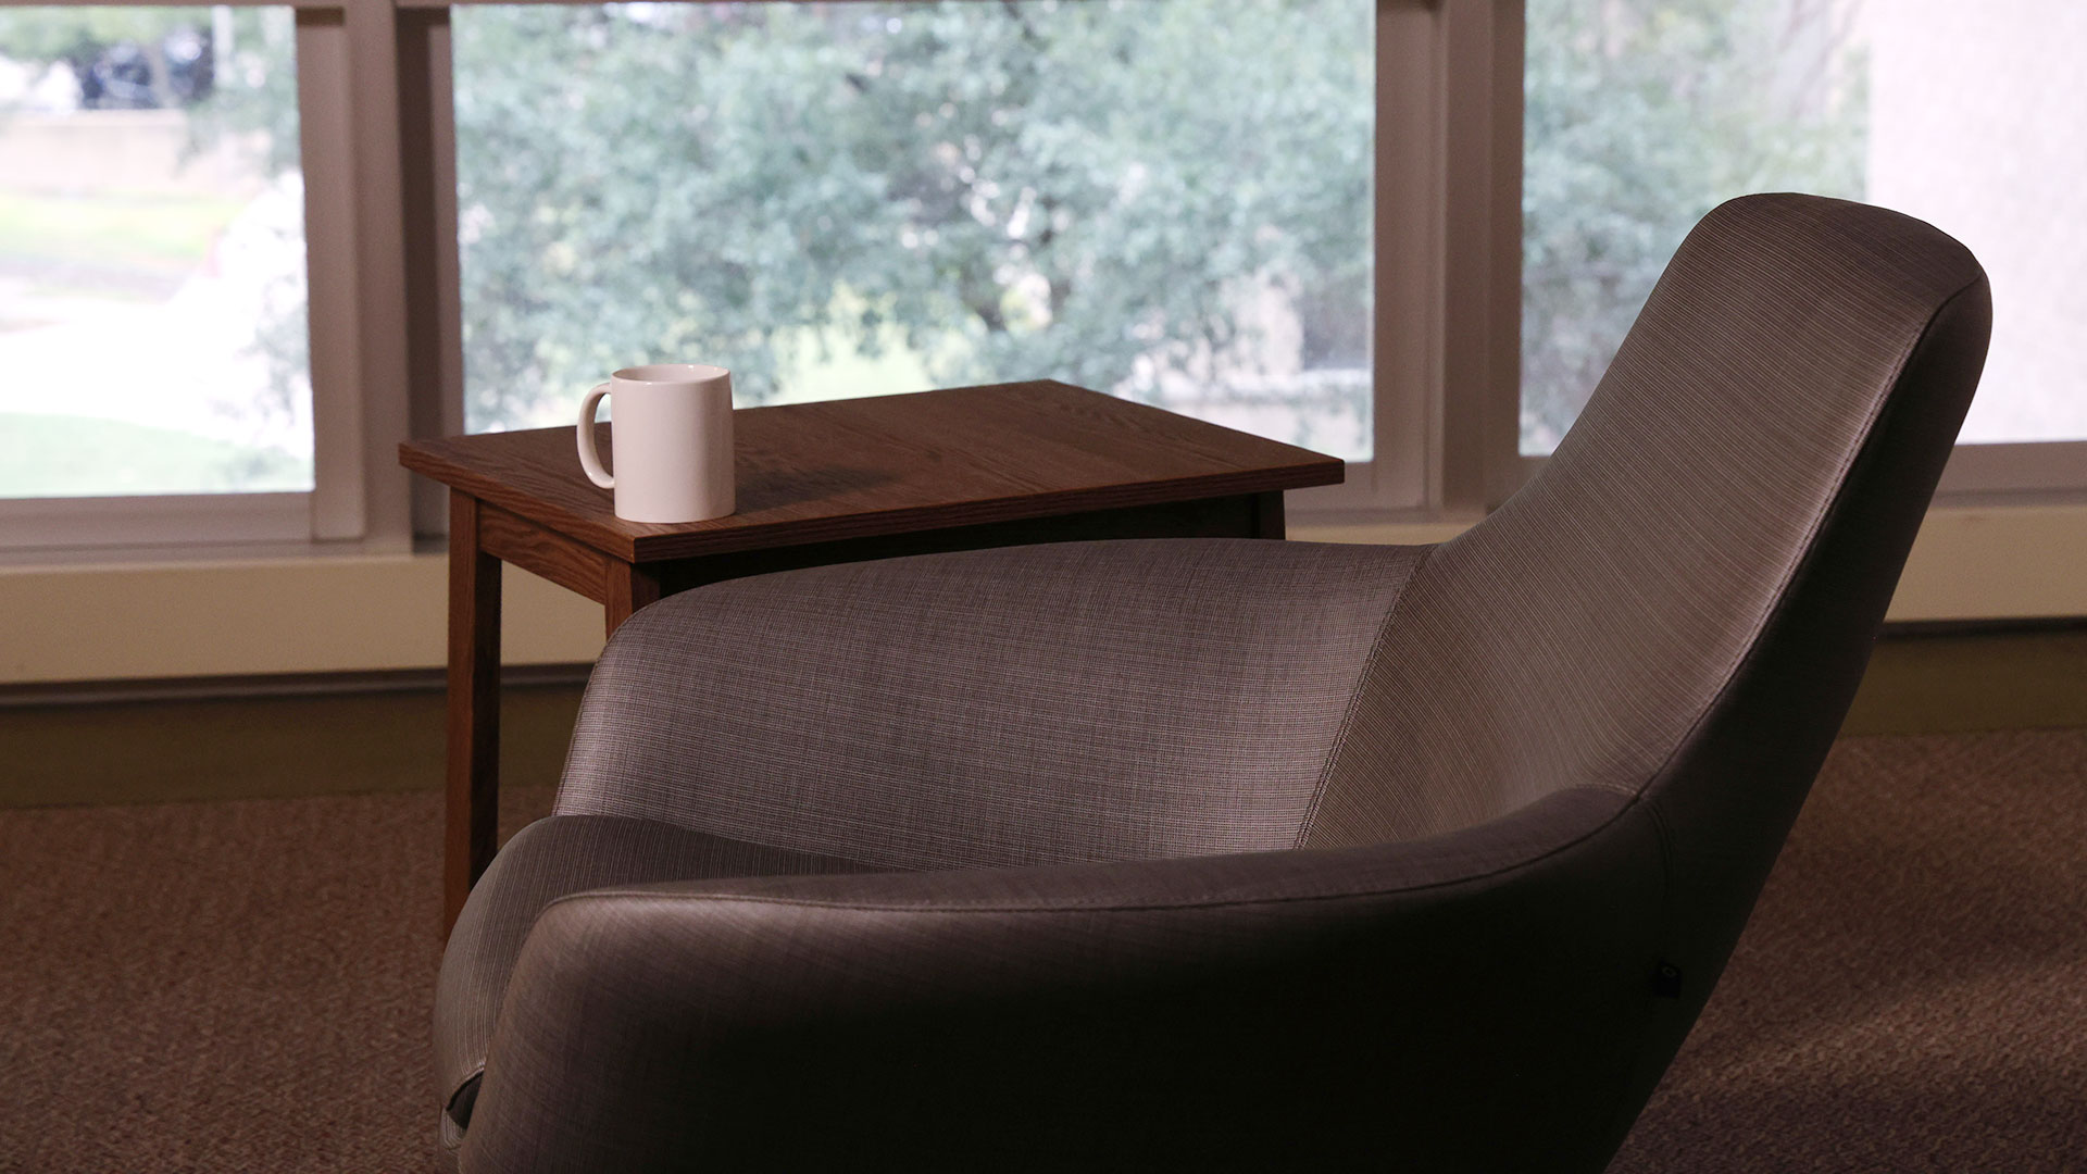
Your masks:
<path fill-rule="evenodd" d="M 1549 453 L 1688 228 L 1726 198 L 1862 198 L 1839 0 L 1530 0 L 1521 449 Z"/>

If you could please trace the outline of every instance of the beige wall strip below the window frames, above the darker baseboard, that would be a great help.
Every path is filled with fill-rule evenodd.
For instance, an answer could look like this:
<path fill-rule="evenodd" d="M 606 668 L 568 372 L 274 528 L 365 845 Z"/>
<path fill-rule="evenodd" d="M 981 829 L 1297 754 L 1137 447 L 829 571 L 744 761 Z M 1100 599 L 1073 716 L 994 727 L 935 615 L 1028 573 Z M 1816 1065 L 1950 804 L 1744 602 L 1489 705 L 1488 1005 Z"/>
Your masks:
<path fill-rule="evenodd" d="M 1298 526 L 1425 543 L 1457 524 Z M 505 581 L 509 664 L 593 660 L 601 608 Z M 0 568 L 0 683 L 426 668 L 445 656 L 438 554 Z M 2087 616 L 2087 506 L 1937 510 L 1895 620 Z"/>

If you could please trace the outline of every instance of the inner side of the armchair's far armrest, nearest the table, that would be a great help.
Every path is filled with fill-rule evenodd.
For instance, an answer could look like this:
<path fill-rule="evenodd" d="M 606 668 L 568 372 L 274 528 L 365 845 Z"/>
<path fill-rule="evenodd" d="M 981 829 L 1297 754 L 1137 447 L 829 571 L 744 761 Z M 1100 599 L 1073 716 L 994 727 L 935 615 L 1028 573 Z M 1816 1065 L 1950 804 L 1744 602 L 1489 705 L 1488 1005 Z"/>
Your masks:
<path fill-rule="evenodd" d="M 1413 560 L 1104 541 L 674 595 L 595 668 L 557 813 L 906 869 L 1288 848 Z"/>

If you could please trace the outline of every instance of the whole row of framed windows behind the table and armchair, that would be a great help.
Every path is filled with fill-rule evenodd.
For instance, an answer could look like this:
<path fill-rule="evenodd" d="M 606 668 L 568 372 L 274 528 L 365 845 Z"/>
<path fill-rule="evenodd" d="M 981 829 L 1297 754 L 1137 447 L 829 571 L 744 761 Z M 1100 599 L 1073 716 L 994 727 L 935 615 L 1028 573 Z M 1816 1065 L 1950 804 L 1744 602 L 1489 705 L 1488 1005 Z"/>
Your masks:
<path fill-rule="evenodd" d="M 1682 232 L 1776 186 L 1985 259 L 1945 491 L 2079 491 L 2083 36 L 2062 0 L 0 0 L 0 547 L 403 549 L 442 510 L 397 441 L 563 426 L 659 357 L 745 403 L 1069 378 L 1348 457 L 1302 516 L 1476 512 Z"/>

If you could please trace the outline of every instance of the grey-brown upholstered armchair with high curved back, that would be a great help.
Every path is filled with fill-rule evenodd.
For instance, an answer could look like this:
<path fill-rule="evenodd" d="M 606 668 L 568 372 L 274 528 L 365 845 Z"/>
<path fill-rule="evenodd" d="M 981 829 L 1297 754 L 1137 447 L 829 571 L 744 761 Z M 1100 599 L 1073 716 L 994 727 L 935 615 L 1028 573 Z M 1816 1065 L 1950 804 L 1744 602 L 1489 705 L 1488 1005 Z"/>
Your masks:
<path fill-rule="evenodd" d="M 1987 324 L 1926 224 L 1743 198 L 1450 543 L 643 610 L 449 944 L 463 1170 L 1599 1170 L 1841 723 Z"/>

